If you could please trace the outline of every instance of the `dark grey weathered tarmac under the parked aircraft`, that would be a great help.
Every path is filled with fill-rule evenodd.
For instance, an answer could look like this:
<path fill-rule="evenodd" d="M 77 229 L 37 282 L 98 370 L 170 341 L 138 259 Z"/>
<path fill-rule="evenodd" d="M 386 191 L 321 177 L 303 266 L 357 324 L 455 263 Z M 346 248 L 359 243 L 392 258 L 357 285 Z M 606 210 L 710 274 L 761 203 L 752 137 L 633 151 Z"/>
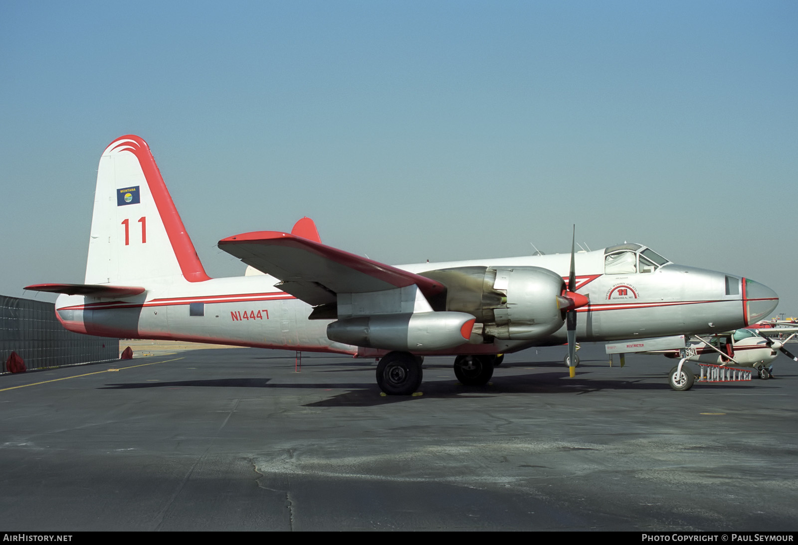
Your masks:
<path fill-rule="evenodd" d="M 2 376 L 0 531 L 798 529 L 792 361 L 676 392 L 674 360 L 563 355 L 484 387 L 427 358 L 406 398 L 247 348 Z"/>

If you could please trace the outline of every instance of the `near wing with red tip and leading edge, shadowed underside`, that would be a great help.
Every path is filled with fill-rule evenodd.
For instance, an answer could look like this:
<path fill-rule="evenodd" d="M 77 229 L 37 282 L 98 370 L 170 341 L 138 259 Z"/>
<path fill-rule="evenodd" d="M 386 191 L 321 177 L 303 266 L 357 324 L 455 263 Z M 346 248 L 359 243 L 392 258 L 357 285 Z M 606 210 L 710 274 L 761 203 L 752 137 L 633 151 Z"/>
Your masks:
<path fill-rule="evenodd" d="M 243 233 L 223 238 L 219 249 L 279 278 L 279 288 L 313 306 L 336 302 L 338 293 L 381 292 L 416 284 L 429 299 L 445 289 L 425 276 L 290 233 Z"/>

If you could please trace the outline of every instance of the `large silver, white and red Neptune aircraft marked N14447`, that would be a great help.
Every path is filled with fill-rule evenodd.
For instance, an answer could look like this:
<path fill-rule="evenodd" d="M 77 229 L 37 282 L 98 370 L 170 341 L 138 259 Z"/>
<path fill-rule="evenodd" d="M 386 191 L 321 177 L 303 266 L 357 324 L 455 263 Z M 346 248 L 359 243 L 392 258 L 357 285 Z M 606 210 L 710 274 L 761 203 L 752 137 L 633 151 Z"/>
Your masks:
<path fill-rule="evenodd" d="M 460 382 L 483 385 L 496 355 L 528 347 L 692 335 L 756 323 L 776 293 L 741 276 L 676 265 L 644 245 L 591 252 L 385 265 L 322 244 L 303 219 L 219 248 L 262 275 L 209 278 L 148 144 L 103 152 L 84 284 L 61 293 L 70 331 L 381 357 L 386 394 L 412 394 L 425 355 L 452 355 Z"/>

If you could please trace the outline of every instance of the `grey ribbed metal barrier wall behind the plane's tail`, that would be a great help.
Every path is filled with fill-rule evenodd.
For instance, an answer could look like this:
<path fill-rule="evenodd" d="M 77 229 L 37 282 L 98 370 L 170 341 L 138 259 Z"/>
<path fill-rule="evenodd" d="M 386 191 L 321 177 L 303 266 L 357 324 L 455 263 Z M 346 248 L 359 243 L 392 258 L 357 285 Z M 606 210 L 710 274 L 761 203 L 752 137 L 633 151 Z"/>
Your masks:
<path fill-rule="evenodd" d="M 119 339 L 66 331 L 55 317 L 55 305 L 0 296 L 0 372 L 16 352 L 28 369 L 119 359 Z"/>

